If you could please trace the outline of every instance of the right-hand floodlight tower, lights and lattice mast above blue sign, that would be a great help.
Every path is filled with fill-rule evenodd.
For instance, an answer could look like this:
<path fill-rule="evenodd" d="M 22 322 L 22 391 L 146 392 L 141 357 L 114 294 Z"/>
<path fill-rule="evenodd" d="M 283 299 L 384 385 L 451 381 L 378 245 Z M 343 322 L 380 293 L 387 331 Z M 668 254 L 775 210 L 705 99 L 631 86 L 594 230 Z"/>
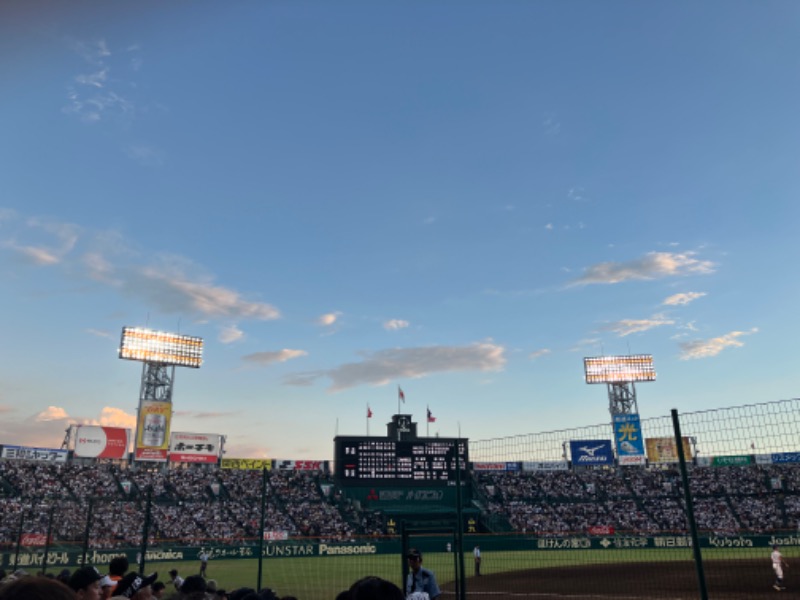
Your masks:
<path fill-rule="evenodd" d="M 583 359 L 586 383 L 605 383 L 608 386 L 608 410 L 615 415 L 638 414 L 637 381 L 655 381 L 652 354 L 627 356 L 594 356 Z"/>

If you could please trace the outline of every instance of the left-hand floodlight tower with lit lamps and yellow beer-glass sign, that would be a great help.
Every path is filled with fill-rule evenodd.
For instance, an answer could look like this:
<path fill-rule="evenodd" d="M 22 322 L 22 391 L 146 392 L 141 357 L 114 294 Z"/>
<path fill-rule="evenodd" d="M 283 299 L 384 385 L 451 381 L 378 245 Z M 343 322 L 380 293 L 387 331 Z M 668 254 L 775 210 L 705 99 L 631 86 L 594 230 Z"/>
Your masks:
<path fill-rule="evenodd" d="M 170 406 L 165 408 L 169 408 L 168 415 L 172 414 L 175 367 L 200 368 L 203 364 L 203 338 L 142 327 L 123 327 L 119 357 L 144 363 L 134 443 L 139 443 L 139 431 L 143 427 L 141 440 L 144 446 L 155 448 L 169 444 L 169 440 L 165 440 L 168 418 L 147 415 L 153 422 L 143 423 L 142 406 L 153 402 L 168 403 Z"/>

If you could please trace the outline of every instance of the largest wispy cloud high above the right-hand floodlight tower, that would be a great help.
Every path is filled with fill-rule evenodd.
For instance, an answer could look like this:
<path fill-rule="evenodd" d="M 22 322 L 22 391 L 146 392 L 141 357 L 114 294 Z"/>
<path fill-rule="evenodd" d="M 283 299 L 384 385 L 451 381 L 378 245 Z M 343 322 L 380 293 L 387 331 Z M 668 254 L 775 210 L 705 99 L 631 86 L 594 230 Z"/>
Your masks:
<path fill-rule="evenodd" d="M 571 285 L 612 284 L 683 275 L 713 273 L 715 264 L 695 258 L 694 253 L 650 252 L 629 262 L 604 262 L 587 267 Z"/>

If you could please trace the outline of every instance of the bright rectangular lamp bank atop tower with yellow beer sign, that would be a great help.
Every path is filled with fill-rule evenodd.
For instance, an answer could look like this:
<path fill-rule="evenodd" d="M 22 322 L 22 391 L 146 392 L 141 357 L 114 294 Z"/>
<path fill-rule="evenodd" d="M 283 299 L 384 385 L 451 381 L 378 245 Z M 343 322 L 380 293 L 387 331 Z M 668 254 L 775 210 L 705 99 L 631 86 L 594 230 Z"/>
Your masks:
<path fill-rule="evenodd" d="M 198 369 L 203 364 L 203 338 L 142 327 L 123 327 L 119 357 Z"/>

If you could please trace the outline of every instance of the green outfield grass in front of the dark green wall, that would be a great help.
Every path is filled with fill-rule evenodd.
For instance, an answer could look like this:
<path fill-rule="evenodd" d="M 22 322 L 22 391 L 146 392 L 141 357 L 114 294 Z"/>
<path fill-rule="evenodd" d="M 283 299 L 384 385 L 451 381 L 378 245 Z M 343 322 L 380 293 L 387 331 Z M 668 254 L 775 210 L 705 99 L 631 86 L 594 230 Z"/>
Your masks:
<path fill-rule="evenodd" d="M 787 548 L 784 556 L 791 562 L 797 550 Z M 768 568 L 768 553 L 761 549 L 705 549 L 705 561 L 732 559 L 763 559 Z M 426 553 L 425 566 L 432 569 L 440 585 L 447 587 L 455 579 L 455 555 L 452 553 Z M 535 570 L 580 566 L 619 565 L 642 562 L 691 562 L 691 549 L 667 550 L 548 550 L 548 551 L 498 551 L 485 552 L 481 572 L 491 576 L 510 572 L 535 572 Z M 366 575 L 376 575 L 400 585 L 403 561 L 396 555 L 360 555 L 335 557 L 269 558 L 262 563 L 261 587 L 270 587 L 280 596 L 296 596 L 299 600 L 332 600 L 336 594 L 347 589 L 351 583 Z M 464 556 L 467 577 L 473 574 L 471 554 Z M 177 568 L 181 576 L 196 574 L 197 561 L 184 563 L 148 563 L 146 571 L 158 571 L 162 581 L 168 571 Z M 255 559 L 212 560 L 208 566 L 208 577 L 226 590 L 258 585 L 258 561 Z M 531 575 L 534 585 L 535 576 Z M 467 590 L 470 584 L 467 582 Z"/>

